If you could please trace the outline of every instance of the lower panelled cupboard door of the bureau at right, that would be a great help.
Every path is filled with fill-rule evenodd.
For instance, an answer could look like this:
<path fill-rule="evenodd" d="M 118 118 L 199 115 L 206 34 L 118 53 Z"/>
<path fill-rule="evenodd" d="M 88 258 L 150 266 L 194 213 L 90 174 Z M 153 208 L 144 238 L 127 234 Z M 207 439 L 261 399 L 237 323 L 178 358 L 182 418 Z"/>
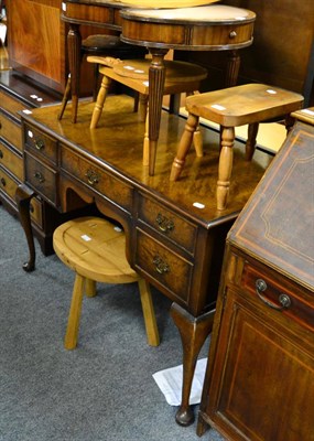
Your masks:
<path fill-rule="evenodd" d="M 275 314 L 227 292 L 206 413 L 232 440 L 314 440 L 313 334 Z"/>

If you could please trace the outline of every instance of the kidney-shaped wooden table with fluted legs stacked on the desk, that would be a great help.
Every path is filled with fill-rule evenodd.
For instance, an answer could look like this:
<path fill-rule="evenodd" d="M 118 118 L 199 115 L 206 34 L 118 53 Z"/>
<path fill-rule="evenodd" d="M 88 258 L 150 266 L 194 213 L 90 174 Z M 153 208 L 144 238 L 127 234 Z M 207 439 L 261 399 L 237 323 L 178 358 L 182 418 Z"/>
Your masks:
<path fill-rule="evenodd" d="M 202 2 L 202 0 L 199 0 Z M 199 3 L 198 1 L 198 3 Z M 210 2 L 210 0 L 208 1 Z M 93 24 L 121 31 L 126 43 L 148 47 L 152 55 L 149 74 L 150 118 L 149 173 L 154 174 L 165 78 L 164 56 L 169 50 L 230 51 L 226 87 L 238 78 L 239 49 L 252 44 L 256 14 L 252 11 L 221 4 L 177 9 L 130 9 L 134 1 L 65 0 L 62 20 L 69 24 L 68 62 L 72 97 L 79 96 L 80 24 Z M 180 2 L 178 2 L 180 3 Z M 184 1 L 182 2 L 184 4 Z M 196 3 L 196 1 L 195 1 Z M 73 116 L 73 122 L 76 122 Z"/>

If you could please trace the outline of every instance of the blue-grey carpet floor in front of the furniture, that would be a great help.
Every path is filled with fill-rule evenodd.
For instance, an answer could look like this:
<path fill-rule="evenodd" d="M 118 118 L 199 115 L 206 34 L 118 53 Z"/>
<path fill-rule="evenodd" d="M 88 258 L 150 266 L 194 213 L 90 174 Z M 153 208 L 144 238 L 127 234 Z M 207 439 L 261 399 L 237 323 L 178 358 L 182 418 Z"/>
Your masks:
<path fill-rule="evenodd" d="M 74 273 L 36 251 L 36 270 L 24 272 L 22 228 L 0 206 L 0 441 L 199 440 L 152 378 L 182 363 L 169 299 L 153 290 L 161 345 L 150 347 L 137 284 L 101 284 L 84 300 L 78 347 L 65 351 Z"/>

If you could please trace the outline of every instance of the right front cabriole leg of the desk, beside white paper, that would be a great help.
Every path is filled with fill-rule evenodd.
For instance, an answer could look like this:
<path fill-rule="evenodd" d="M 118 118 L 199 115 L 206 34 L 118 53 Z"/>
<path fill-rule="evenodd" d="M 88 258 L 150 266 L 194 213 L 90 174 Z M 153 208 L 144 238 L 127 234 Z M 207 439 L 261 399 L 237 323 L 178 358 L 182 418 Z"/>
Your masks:
<path fill-rule="evenodd" d="M 195 318 L 178 304 L 172 303 L 170 313 L 178 329 L 183 348 L 182 401 L 175 421 L 186 427 L 192 424 L 195 418 L 190 406 L 191 387 L 197 356 L 213 329 L 215 310 Z"/>

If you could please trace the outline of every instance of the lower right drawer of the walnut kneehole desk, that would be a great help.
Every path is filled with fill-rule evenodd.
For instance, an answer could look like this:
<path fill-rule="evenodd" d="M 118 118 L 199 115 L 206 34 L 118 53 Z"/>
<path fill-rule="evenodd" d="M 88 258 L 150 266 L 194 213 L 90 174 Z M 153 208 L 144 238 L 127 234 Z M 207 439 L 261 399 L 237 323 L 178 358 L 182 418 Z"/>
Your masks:
<path fill-rule="evenodd" d="M 188 304 L 193 265 L 139 228 L 134 263 L 171 291 L 172 300 Z"/>

